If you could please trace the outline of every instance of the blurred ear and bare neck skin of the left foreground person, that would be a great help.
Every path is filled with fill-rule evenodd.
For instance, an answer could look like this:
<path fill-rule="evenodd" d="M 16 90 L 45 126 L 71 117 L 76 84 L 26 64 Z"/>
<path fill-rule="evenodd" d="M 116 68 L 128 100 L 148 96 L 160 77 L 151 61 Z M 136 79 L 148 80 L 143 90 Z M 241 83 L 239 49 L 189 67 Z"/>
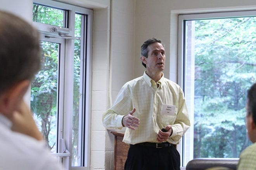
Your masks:
<path fill-rule="evenodd" d="M 0 97 L 0 112 L 8 116 L 19 108 L 29 85 L 29 80 L 22 80 L 4 92 Z"/>

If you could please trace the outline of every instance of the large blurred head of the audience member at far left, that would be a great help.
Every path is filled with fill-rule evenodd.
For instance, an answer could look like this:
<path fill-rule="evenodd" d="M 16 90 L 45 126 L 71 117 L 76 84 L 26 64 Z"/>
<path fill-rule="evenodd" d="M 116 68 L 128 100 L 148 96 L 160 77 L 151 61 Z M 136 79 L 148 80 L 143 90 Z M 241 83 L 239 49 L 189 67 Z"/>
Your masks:
<path fill-rule="evenodd" d="M 38 32 L 26 21 L 0 11 L 0 113 L 19 107 L 40 68 Z"/>

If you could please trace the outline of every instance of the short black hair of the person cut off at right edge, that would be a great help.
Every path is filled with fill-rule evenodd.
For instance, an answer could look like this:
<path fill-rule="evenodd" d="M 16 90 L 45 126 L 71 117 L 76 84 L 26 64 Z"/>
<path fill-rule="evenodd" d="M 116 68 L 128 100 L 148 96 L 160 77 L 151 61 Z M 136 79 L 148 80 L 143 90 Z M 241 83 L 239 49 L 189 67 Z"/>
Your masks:
<path fill-rule="evenodd" d="M 256 83 L 247 92 L 247 112 L 252 114 L 254 124 L 256 124 Z"/>

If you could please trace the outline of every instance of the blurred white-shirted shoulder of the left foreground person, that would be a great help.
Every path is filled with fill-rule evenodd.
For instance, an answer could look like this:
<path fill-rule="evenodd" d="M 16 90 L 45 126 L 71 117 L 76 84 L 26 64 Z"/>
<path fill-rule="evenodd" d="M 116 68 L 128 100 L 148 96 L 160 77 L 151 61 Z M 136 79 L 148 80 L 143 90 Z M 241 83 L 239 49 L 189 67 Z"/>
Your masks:
<path fill-rule="evenodd" d="M 57 161 L 46 148 L 44 141 L 37 141 L 30 136 L 13 132 L 2 124 L 0 131 L 0 151 L 3 155 L 0 164 L 6 169 L 23 170 L 30 167 L 30 169 L 37 170 L 42 169 L 47 162 L 49 163 L 47 167 L 58 169 Z"/>

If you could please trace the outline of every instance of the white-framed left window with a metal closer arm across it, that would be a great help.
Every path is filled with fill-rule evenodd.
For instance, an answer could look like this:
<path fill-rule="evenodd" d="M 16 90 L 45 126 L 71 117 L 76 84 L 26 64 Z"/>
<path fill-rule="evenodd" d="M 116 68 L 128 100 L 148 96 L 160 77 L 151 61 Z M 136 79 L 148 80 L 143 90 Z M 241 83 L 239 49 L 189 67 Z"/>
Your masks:
<path fill-rule="evenodd" d="M 42 49 L 31 84 L 38 128 L 65 168 L 89 169 L 92 10 L 35 0 L 33 21 Z"/>

